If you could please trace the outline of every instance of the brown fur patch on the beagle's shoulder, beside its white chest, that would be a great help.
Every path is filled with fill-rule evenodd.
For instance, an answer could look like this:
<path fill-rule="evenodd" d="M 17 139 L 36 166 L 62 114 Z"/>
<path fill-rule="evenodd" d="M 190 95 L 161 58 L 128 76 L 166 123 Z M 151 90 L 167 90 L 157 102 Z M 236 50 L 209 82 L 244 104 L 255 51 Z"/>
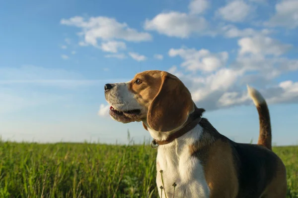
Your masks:
<path fill-rule="evenodd" d="M 202 139 L 190 146 L 190 152 L 202 162 L 210 198 L 235 198 L 238 180 L 229 144 L 208 133 Z"/>

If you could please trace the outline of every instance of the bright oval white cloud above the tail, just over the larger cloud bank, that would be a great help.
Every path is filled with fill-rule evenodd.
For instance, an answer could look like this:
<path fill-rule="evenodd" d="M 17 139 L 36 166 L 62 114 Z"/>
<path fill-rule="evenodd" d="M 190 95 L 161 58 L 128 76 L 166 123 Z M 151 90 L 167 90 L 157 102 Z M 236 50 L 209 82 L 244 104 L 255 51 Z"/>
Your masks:
<path fill-rule="evenodd" d="M 282 44 L 270 37 L 255 36 L 245 37 L 238 41 L 240 46 L 239 54 L 252 53 L 255 55 L 276 55 L 279 56 L 291 48 L 289 44 Z"/>

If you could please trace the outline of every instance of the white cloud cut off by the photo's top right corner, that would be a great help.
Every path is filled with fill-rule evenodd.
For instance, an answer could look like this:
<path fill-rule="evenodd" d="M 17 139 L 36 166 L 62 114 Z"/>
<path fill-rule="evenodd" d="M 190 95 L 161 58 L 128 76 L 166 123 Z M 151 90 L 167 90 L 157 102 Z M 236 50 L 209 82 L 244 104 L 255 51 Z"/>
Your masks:
<path fill-rule="evenodd" d="M 281 0 L 275 5 L 275 15 L 265 25 L 298 27 L 298 0 Z"/>

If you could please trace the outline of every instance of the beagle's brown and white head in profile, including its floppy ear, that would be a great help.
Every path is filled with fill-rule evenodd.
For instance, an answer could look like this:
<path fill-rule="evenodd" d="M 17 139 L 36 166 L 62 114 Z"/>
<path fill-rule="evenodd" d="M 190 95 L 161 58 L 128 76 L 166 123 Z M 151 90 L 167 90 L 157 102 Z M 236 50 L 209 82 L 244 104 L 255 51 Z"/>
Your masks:
<path fill-rule="evenodd" d="M 104 92 L 114 120 L 143 121 L 158 132 L 180 127 L 195 108 L 185 85 L 165 71 L 145 71 L 129 82 L 106 84 Z"/>

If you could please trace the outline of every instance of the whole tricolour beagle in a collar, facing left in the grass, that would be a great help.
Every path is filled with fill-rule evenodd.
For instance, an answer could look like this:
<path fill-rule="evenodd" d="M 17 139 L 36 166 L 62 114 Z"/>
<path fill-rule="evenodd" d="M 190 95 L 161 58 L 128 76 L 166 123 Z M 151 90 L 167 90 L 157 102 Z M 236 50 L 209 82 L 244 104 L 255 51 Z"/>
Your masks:
<path fill-rule="evenodd" d="M 106 84 L 104 92 L 114 120 L 143 122 L 153 138 L 160 197 L 286 198 L 286 168 L 271 149 L 269 110 L 257 90 L 248 87 L 259 113 L 257 145 L 220 134 L 168 72 L 141 72 L 129 82 Z"/>

